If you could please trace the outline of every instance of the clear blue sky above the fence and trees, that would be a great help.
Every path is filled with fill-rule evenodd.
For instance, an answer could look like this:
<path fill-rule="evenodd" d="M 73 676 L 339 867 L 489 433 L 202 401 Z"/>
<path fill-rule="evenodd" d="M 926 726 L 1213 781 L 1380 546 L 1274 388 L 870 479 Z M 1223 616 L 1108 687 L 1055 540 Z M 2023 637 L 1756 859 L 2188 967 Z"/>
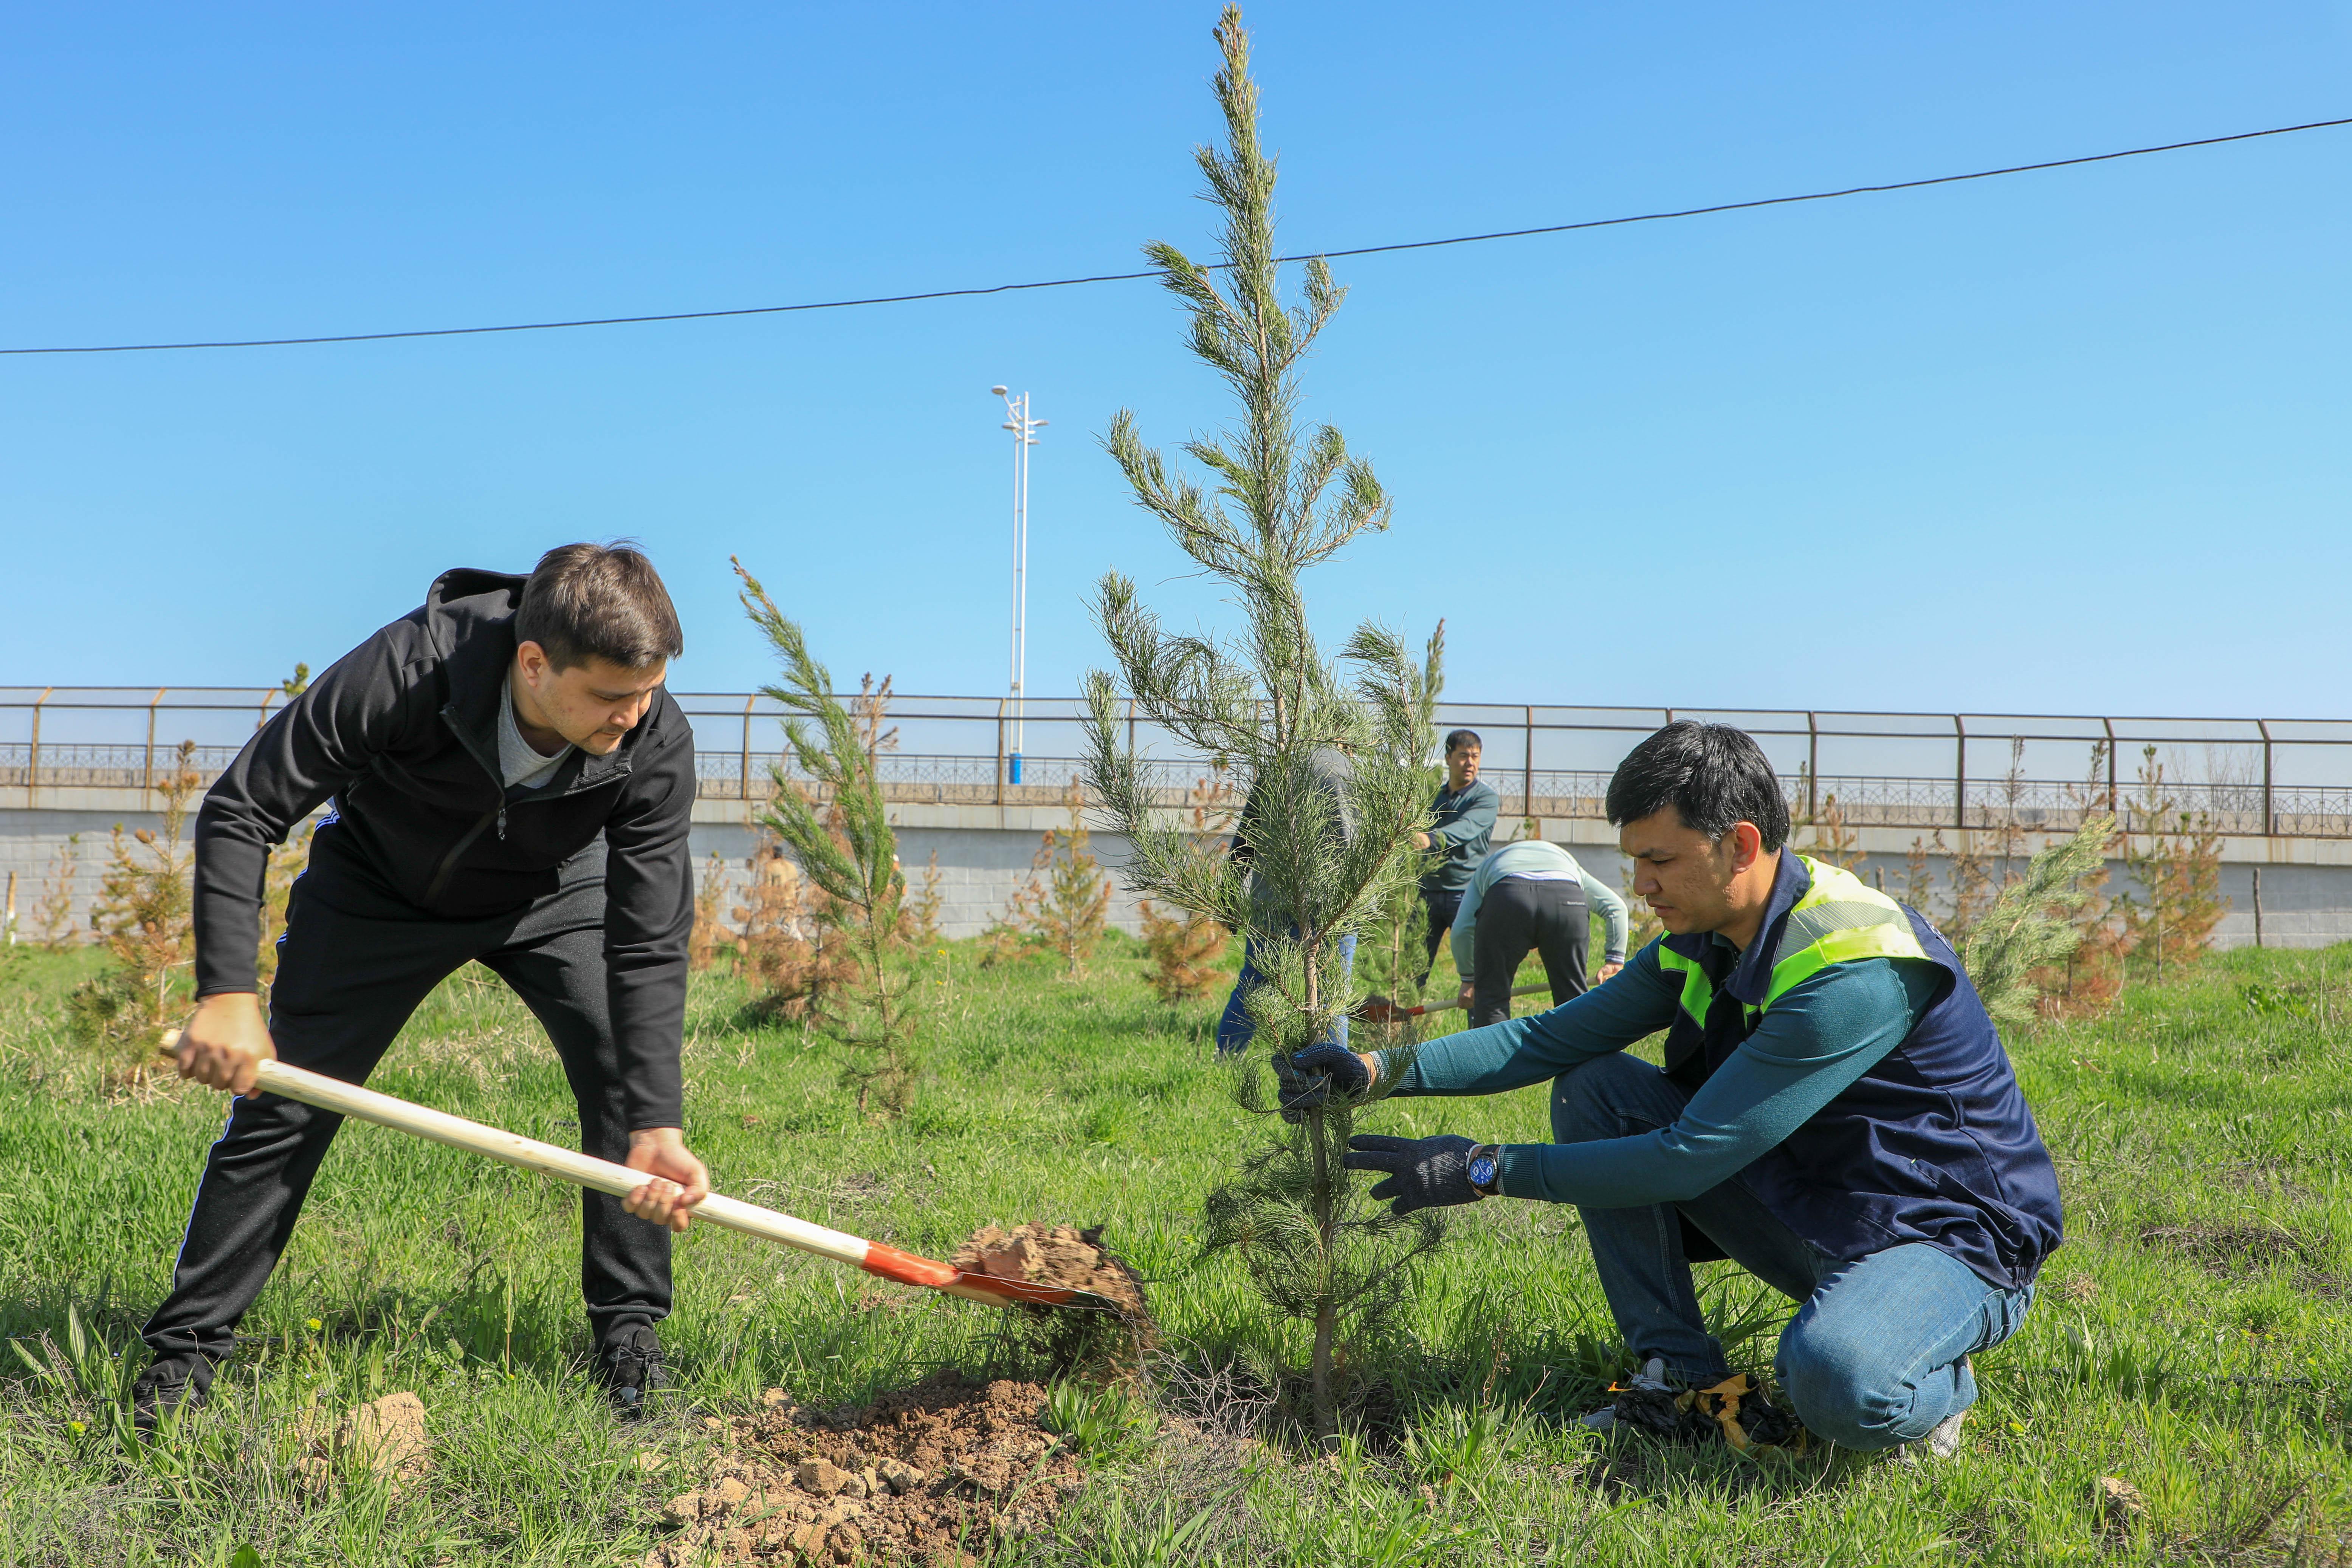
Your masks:
<path fill-rule="evenodd" d="M 1211 5 L 16 7 L 0 343 L 691 310 L 1207 254 Z M 1265 2 L 1291 249 L 1877 183 L 2352 113 L 2352 2 Z M 1395 494 L 1334 639 L 1449 696 L 2352 715 L 2352 129 L 1343 261 L 1308 371 Z M 1030 689 L 1105 567 L 1228 611 L 1117 407 L 1225 416 L 1152 284 L 560 334 L 0 360 L 0 684 L 259 684 L 452 564 L 633 534 L 673 684 Z"/>

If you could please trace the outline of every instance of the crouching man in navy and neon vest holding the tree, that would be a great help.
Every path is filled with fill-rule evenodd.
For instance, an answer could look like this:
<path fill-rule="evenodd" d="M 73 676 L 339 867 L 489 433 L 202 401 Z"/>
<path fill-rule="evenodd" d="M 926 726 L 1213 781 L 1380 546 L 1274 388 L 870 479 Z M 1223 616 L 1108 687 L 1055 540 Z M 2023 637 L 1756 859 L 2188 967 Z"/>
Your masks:
<path fill-rule="evenodd" d="M 1649 1378 L 1726 1375 L 1691 1262 L 1731 1258 L 1802 1302 L 1773 1373 L 1846 1448 L 1957 1448 L 1969 1356 L 2013 1335 L 2058 1246 L 2058 1178 L 1999 1034 L 1915 910 L 1788 849 L 1771 764 L 1679 722 L 1609 783 L 1635 891 L 1668 936 L 1609 985 L 1421 1048 L 1399 1095 L 1552 1084 L 1550 1145 L 1355 1138 L 1406 1213 L 1482 1197 L 1576 1204 Z M 1632 1056 L 1665 1030 L 1665 1067 Z M 1294 1098 L 1364 1093 L 1378 1056 L 1284 1063 Z M 1588 1425 L 1606 1427 L 1597 1410 Z"/>

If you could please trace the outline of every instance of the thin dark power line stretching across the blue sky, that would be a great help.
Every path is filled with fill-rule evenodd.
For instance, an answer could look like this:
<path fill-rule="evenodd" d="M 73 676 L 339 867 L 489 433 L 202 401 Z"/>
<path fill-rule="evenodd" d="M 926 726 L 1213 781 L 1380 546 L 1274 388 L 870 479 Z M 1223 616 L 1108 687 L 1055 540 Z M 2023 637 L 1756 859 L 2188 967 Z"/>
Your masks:
<path fill-rule="evenodd" d="M 1922 190 L 1926 186 L 1957 186 L 1971 179 L 1999 179 L 2004 174 L 2034 174 L 2042 169 L 2072 169 L 2089 162 L 2114 162 L 2117 158 L 2147 158 L 2150 153 L 2180 153 L 2185 148 L 2213 148 L 2227 141 L 2256 141 L 2260 136 L 2291 136 L 2296 132 L 2324 132 L 2340 125 L 2352 125 L 2345 120 L 2310 120 L 2307 125 L 2274 125 L 2263 132 L 2237 132 L 2230 136 L 2199 136 L 2197 141 L 2166 141 L 2150 148 L 2124 148 L 2119 153 L 2089 153 L 2084 158 L 2051 158 L 2049 162 L 2020 162 L 2006 169 L 1973 169 L 1969 174 L 1933 174 L 1929 179 L 1903 179 L 1889 186 L 1846 186 L 1844 190 L 1806 190 L 1802 195 L 1766 195 L 1752 202 L 1717 202 L 1715 207 L 1677 207 L 1672 212 L 1635 212 L 1621 219 L 1585 219 L 1583 223 L 1545 223 L 1541 228 L 1498 228 L 1484 235 L 1451 235 L 1446 240 L 1399 240 L 1395 244 L 1357 244 L 1352 249 L 1338 252 L 1312 252 L 1305 256 L 1277 256 L 1277 261 L 1312 261 L 1315 256 L 1385 256 L 1390 252 L 1425 252 L 1439 244 L 1482 244 L 1486 240 L 1526 240 L 1534 235 L 1566 235 L 1583 228 L 1621 228 L 1625 223 L 1663 223 L 1668 219 L 1703 219 L 1717 212 L 1752 212 L 1757 207 L 1790 207 L 1797 202 L 1832 202 L 1844 195 L 1882 195 L 1886 190 Z M 1216 263 L 1209 270 L 1223 270 L 1228 263 Z M 927 289 L 922 294 L 875 294 L 868 299 L 821 299 L 804 301 L 797 306 L 743 306 L 736 310 L 668 310 L 661 315 L 597 315 L 574 322 L 503 322 L 499 327 L 419 327 L 409 331 L 339 331 L 329 336 L 313 339 L 226 339 L 212 343 L 85 343 L 85 346 L 59 346 L 59 348 L 0 348 L 0 355 L 134 355 L 134 353 L 167 353 L 179 348 L 299 348 L 306 343 L 386 343 L 393 339 L 466 339 L 489 331 L 557 331 L 564 327 L 635 327 L 642 322 L 713 322 L 729 315 L 788 315 L 793 310 L 854 310 L 858 306 L 908 306 L 922 299 L 974 299 L 981 294 L 1018 294 L 1025 289 L 1075 289 L 1091 282 L 1136 282 L 1143 277 L 1160 277 L 1160 270 L 1145 273 L 1094 273 L 1091 277 L 1044 277 L 1037 282 L 1000 282 L 971 289 Z"/>

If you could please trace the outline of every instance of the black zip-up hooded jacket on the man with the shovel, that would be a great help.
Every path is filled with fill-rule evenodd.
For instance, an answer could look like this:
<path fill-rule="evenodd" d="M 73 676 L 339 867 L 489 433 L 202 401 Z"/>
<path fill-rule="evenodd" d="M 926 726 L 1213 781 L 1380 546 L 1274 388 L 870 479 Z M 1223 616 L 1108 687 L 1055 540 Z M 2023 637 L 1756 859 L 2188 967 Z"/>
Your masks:
<path fill-rule="evenodd" d="M 245 743 L 195 816 L 195 994 L 256 990 L 273 844 L 334 799 L 343 849 L 426 917 L 487 919 L 555 891 L 604 835 L 604 966 L 630 1128 L 680 1126 L 694 929 L 694 729 L 668 689 L 607 757 L 546 785 L 499 773 L 499 691 L 524 578 L 445 571 Z"/>

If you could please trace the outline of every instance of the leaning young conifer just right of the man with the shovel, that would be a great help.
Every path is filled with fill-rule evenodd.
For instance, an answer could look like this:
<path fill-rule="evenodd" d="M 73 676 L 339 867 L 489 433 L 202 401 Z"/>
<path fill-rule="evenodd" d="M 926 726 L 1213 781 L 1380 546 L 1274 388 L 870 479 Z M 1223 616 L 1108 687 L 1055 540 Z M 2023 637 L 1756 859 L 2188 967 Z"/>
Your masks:
<path fill-rule="evenodd" d="M 802 875 L 816 889 L 816 924 L 847 959 L 844 976 L 811 997 L 811 1020 L 842 1051 L 842 1084 L 858 1095 L 858 1114 L 875 1105 L 898 1117 L 915 1100 L 922 1074 L 917 1051 L 915 976 L 894 964 L 906 947 L 906 877 L 898 872 L 898 839 L 882 804 L 877 752 L 882 691 L 868 679 L 856 712 L 833 696 L 833 675 L 809 656 L 809 639 L 760 588 L 760 578 L 734 564 L 743 578 L 743 611 L 776 649 L 783 684 L 762 691 L 795 715 L 783 722 L 786 745 L 800 771 L 830 795 L 826 813 L 776 769 L 776 795 L 762 825 L 783 839 Z M 816 729 L 809 729 L 809 722 Z"/>

